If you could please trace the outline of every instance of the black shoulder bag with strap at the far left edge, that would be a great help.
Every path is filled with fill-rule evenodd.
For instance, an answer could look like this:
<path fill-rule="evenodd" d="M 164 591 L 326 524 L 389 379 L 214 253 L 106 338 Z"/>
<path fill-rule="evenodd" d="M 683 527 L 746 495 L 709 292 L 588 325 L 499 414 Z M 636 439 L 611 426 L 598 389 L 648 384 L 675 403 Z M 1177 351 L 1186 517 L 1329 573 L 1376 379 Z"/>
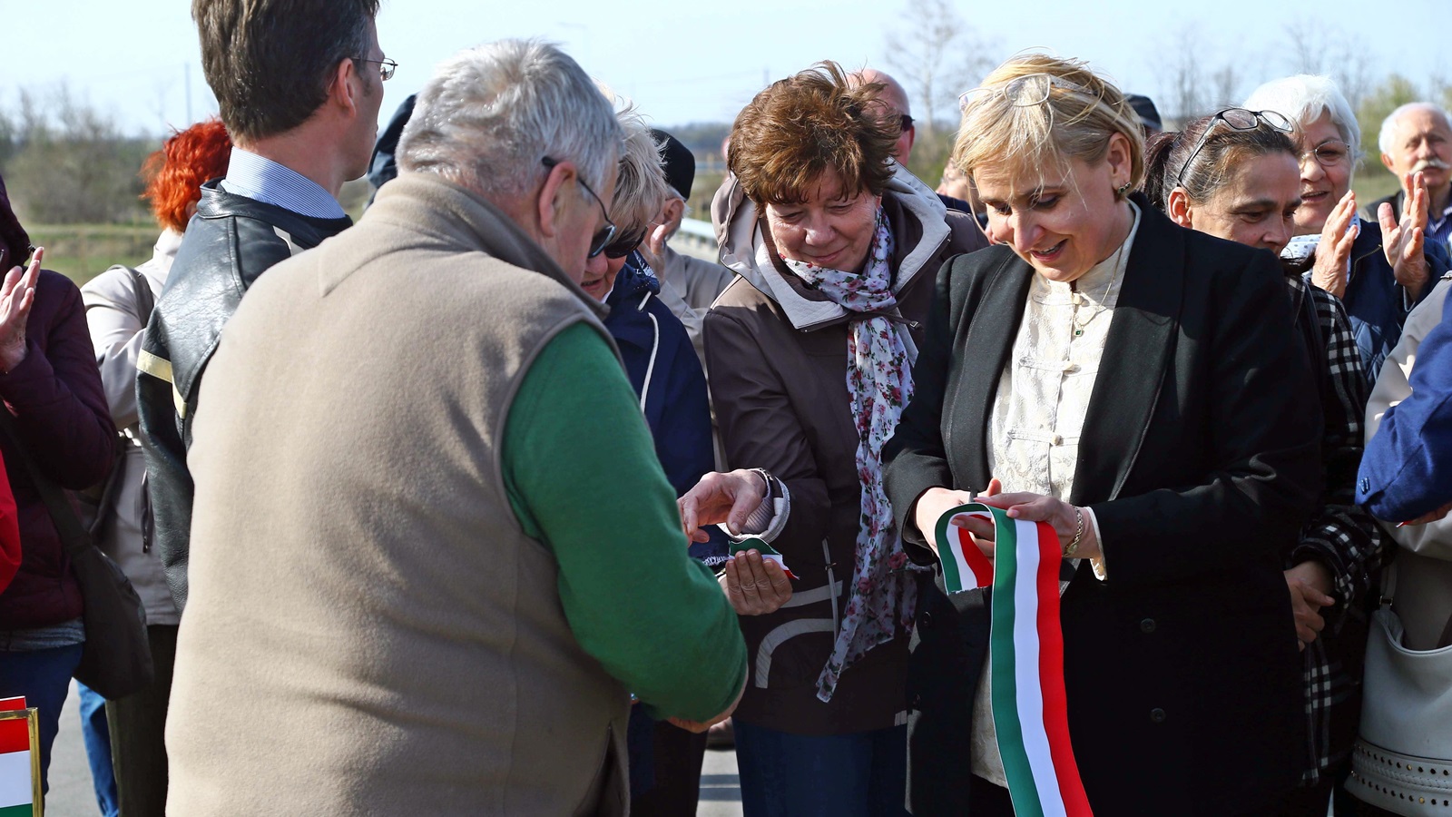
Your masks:
<path fill-rule="evenodd" d="M 147 611 L 131 586 L 126 574 L 116 567 L 81 526 L 65 493 L 46 478 L 35 458 L 20 442 L 15 420 L 0 407 L 0 433 L 3 433 L 25 462 L 30 484 L 41 494 L 55 532 L 71 557 L 71 570 L 81 586 L 86 605 L 81 613 L 86 624 L 86 644 L 81 648 L 81 663 L 76 667 L 76 680 L 94 689 L 102 698 L 115 701 L 151 686 L 155 669 L 151 664 L 151 643 L 147 638 Z M 12 475 L 12 480 L 15 477 Z M 23 545 L 22 545 L 23 547 Z"/>

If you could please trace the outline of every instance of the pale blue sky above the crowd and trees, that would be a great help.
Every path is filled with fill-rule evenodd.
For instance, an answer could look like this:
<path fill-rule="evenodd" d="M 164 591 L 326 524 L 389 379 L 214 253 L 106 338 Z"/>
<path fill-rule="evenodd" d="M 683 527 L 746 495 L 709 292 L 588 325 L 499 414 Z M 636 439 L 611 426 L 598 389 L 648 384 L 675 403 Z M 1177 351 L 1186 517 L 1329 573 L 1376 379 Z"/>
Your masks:
<path fill-rule="evenodd" d="M 1186 48 L 1204 65 L 1234 65 L 1240 94 L 1291 73 L 1286 32 L 1297 20 L 1321 20 L 1337 36 L 1356 38 L 1376 79 L 1391 71 L 1416 81 L 1452 77 L 1446 45 L 1452 9 L 1443 0 L 960 0 L 954 6 L 995 44 L 995 58 L 1048 48 L 1089 60 L 1125 90 L 1157 99 L 1169 94 L 1166 74 Z M 197 65 L 189 9 L 187 0 L 0 0 L 6 41 L 0 106 L 13 109 L 17 89 L 41 90 L 64 80 L 112 110 L 128 131 L 158 132 L 187 122 L 190 65 L 192 116 L 203 116 L 215 102 Z M 730 121 L 764 79 L 816 60 L 886 65 L 884 32 L 913 9 L 900 0 L 383 0 L 379 39 L 399 70 L 386 86 L 382 115 L 386 119 L 436 63 L 460 48 L 543 36 L 633 97 L 656 124 Z"/>

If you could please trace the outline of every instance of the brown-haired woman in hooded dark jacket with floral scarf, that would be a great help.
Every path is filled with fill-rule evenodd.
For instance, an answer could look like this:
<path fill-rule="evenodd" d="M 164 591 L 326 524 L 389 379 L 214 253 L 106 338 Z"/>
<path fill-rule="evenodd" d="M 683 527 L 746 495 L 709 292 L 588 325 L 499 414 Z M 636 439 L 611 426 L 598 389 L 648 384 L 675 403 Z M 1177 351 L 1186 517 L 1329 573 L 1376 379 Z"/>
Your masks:
<path fill-rule="evenodd" d="M 726 461 L 752 471 L 709 474 L 682 512 L 704 541 L 697 523 L 725 522 L 739 500 L 732 532 L 756 532 L 797 577 L 780 611 L 741 618 L 748 817 L 903 808 L 916 581 L 881 446 L 912 395 L 931 281 L 984 240 L 890 163 L 897 128 L 876 115 L 880 92 L 823 63 L 756 94 L 713 205 L 722 263 L 741 278 L 706 317 L 707 379 Z"/>

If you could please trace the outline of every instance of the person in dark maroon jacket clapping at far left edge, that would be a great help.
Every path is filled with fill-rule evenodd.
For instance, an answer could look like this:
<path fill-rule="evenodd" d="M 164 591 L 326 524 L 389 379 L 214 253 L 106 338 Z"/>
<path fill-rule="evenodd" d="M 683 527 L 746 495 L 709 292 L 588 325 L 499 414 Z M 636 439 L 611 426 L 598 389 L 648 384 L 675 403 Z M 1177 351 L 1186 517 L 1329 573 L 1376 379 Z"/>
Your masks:
<path fill-rule="evenodd" d="M 20 526 L 20 570 L 0 593 L 0 698 L 25 695 L 41 711 L 41 778 L 81 660 L 86 627 L 70 557 L 26 467 L 61 490 L 106 478 L 116 429 L 86 334 L 81 294 L 68 278 L 41 269 L 44 251 L 10 209 L 0 182 L 0 451 Z M 25 267 L 15 266 L 25 263 Z"/>

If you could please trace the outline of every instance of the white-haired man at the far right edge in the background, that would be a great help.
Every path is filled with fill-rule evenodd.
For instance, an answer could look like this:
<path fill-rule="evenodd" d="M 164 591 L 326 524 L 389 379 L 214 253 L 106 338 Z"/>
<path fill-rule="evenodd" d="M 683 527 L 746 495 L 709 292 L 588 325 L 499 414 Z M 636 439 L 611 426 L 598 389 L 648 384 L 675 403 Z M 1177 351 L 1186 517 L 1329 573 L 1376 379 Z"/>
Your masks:
<path fill-rule="evenodd" d="M 1372 218 L 1382 202 L 1390 204 L 1397 220 L 1407 201 L 1406 179 L 1422 173 L 1427 185 L 1426 240 L 1446 246 L 1452 240 L 1452 119 L 1430 102 L 1408 102 L 1381 124 L 1381 163 L 1391 170 L 1403 189 L 1371 205 Z"/>

